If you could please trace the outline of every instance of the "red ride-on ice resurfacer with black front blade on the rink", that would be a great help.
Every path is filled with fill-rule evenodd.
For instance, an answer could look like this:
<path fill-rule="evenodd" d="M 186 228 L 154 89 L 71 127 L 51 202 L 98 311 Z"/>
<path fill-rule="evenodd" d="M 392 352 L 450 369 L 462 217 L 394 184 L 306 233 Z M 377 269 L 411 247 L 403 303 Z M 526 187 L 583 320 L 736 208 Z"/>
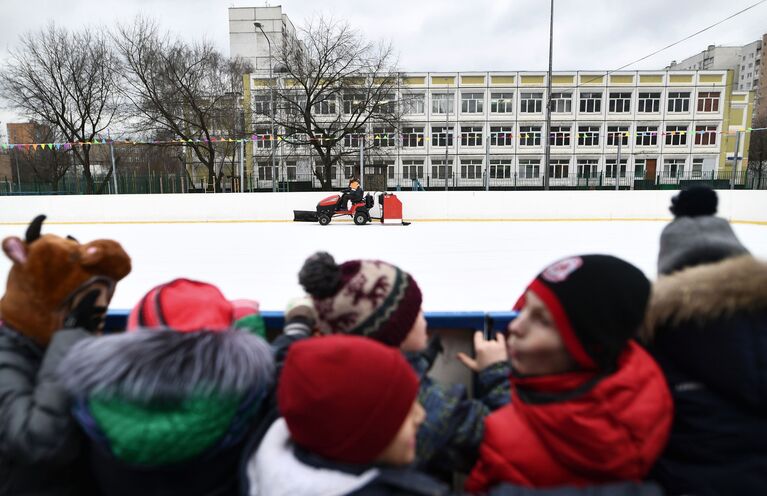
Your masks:
<path fill-rule="evenodd" d="M 367 224 L 371 220 L 380 220 L 381 223 L 396 223 L 409 225 L 409 222 L 402 221 L 402 202 L 391 193 L 381 193 L 378 195 L 378 204 L 381 207 L 381 216 L 371 215 L 371 209 L 375 206 L 375 200 L 371 194 L 365 195 L 362 201 L 352 203 L 349 210 L 337 210 L 341 195 L 328 196 L 320 200 L 317 204 L 317 210 L 293 210 L 293 220 L 295 222 L 319 222 L 320 225 L 327 226 L 334 217 L 350 216 L 358 226 Z"/>

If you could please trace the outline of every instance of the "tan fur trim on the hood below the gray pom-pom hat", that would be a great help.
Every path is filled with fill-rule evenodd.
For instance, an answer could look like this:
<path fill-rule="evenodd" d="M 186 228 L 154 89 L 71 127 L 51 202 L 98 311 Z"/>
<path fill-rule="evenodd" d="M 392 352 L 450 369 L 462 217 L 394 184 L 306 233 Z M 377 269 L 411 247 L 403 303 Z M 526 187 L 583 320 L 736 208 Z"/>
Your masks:
<path fill-rule="evenodd" d="M 751 255 L 691 267 L 653 284 L 641 337 L 652 341 L 663 325 L 706 322 L 767 310 L 767 262 Z"/>

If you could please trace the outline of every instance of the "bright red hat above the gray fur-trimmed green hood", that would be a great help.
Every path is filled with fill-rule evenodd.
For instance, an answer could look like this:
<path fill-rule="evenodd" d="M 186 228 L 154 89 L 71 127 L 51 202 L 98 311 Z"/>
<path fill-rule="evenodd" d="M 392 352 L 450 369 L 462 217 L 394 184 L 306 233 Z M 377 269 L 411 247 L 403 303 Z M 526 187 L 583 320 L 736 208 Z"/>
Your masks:
<path fill-rule="evenodd" d="M 224 331 L 232 326 L 234 313 L 234 306 L 216 286 L 189 279 L 174 279 L 144 295 L 128 316 L 127 329 Z"/>

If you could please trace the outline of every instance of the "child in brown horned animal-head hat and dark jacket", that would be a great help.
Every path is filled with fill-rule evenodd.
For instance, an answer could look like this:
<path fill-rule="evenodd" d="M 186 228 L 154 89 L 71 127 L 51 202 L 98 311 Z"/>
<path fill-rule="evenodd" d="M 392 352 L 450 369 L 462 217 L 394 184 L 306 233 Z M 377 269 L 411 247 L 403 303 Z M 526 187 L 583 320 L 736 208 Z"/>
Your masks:
<path fill-rule="evenodd" d="M 41 234 L 2 241 L 12 262 L 0 299 L 0 493 L 88 494 L 88 460 L 57 368 L 99 333 L 131 259 L 110 239 L 79 243 Z"/>

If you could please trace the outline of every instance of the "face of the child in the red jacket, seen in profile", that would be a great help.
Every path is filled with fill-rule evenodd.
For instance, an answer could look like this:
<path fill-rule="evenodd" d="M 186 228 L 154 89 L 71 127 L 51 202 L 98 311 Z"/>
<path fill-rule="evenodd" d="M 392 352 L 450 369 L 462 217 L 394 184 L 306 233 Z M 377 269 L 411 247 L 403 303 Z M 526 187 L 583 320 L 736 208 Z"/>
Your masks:
<path fill-rule="evenodd" d="M 526 293 L 525 306 L 508 331 L 509 360 L 518 374 L 549 375 L 575 368 L 551 312 L 532 291 Z"/>

